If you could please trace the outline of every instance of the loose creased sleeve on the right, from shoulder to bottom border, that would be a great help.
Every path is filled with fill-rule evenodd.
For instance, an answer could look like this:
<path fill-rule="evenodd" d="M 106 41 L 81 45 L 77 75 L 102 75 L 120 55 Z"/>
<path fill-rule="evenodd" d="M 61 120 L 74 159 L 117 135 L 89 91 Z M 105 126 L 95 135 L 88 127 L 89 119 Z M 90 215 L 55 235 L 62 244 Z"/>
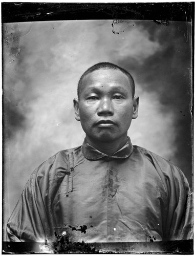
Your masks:
<path fill-rule="evenodd" d="M 163 240 L 193 239 L 192 191 L 182 171 L 152 153 L 150 158 L 164 184 L 167 209 L 163 223 Z"/>

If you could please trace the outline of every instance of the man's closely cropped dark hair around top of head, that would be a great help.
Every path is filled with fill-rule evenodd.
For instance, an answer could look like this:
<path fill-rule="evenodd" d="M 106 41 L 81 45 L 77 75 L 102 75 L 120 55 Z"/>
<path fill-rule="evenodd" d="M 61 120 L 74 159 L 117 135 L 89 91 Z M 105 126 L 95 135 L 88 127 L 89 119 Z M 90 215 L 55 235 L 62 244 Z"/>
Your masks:
<path fill-rule="evenodd" d="M 99 62 L 97 64 L 95 64 L 94 66 L 92 66 L 91 68 L 89 68 L 88 70 L 86 70 L 82 76 L 80 77 L 79 81 L 78 81 L 78 87 L 77 87 L 77 95 L 78 95 L 78 99 L 80 98 L 80 93 L 81 93 L 81 86 L 82 86 L 82 81 L 83 81 L 83 78 L 92 73 L 93 71 L 95 70 L 100 70 L 100 69 L 116 69 L 116 70 L 120 70 L 122 73 L 124 73 L 127 77 L 128 77 L 128 80 L 131 84 L 131 87 L 132 87 L 132 97 L 134 98 L 134 95 L 135 95 L 135 82 L 134 82 L 134 79 L 132 77 L 132 75 L 126 71 L 125 69 L 111 63 L 111 62 Z"/>

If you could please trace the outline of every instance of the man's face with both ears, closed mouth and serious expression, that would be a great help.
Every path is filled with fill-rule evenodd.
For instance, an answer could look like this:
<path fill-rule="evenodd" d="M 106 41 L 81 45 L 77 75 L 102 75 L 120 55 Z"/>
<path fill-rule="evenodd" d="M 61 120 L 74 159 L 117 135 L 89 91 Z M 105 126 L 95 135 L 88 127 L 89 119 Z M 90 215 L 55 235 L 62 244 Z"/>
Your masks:
<path fill-rule="evenodd" d="M 137 118 L 138 101 L 120 70 L 96 70 L 84 77 L 80 99 L 74 99 L 75 118 L 91 141 L 117 142 Z"/>

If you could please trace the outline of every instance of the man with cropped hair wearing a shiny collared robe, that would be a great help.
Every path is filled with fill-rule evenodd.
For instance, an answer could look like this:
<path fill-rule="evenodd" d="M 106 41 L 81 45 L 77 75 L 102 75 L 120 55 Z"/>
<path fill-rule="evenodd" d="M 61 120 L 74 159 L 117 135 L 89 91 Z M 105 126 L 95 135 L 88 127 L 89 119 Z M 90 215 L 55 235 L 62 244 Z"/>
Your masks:
<path fill-rule="evenodd" d="M 11 241 L 146 242 L 192 239 L 192 194 L 181 170 L 127 137 L 139 97 L 109 62 L 78 83 L 82 146 L 60 151 L 31 175 L 7 225 Z"/>

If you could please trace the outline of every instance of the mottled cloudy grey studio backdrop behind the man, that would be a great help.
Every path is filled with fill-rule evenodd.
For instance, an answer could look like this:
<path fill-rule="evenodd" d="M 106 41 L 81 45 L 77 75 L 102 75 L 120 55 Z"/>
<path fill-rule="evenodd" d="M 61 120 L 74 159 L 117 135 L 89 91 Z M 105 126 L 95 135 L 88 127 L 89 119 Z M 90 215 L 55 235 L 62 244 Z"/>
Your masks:
<path fill-rule="evenodd" d="M 135 78 L 140 108 L 128 132 L 133 144 L 178 165 L 191 184 L 191 24 L 112 24 L 3 26 L 4 227 L 35 167 L 82 143 L 73 98 L 81 74 L 100 61 L 114 62 Z"/>

